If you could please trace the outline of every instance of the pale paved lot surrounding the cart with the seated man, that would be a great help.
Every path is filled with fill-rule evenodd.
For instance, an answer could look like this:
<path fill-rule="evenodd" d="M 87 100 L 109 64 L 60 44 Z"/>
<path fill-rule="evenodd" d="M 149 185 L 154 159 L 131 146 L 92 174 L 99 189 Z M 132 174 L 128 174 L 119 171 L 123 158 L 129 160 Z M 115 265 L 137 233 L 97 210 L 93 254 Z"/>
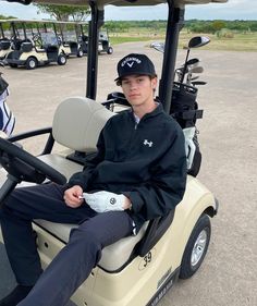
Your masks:
<path fill-rule="evenodd" d="M 162 54 L 144 44 L 123 44 L 99 60 L 98 100 L 118 90 L 115 63 L 132 51 L 147 53 L 160 72 Z M 178 63 L 185 51 L 180 50 Z M 212 220 L 212 238 L 200 270 L 179 281 L 160 306 L 257 305 L 257 53 L 195 49 L 205 68 L 198 103 L 203 166 L 198 178 L 220 201 Z M 4 69 L 10 83 L 9 106 L 16 115 L 15 132 L 51 124 L 58 103 L 68 96 L 85 95 L 86 58 L 65 66 L 34 71 Z M 75 120 L 75 119 L 74 119 Z M 163 135 L 164 137 L 164 135 Z M 32 145 L 27 144 L 27 148 Z M 175 246 L 174 246 L 175 249 Z M 0 297 L 13 285 L 4 248 L 0 247 Z"/>

